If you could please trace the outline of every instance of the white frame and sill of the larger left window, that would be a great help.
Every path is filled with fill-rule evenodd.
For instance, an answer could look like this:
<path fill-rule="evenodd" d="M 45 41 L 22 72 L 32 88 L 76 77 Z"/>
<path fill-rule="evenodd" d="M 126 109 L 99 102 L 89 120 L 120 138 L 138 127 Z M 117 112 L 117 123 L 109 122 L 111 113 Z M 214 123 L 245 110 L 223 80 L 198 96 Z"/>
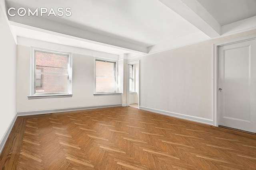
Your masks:
<path fill-rule="evenodd" d="M 53 93 L 36 93 L 36 52 L 50 53 L 57 55 L 68 56 L 68 81 L 67 92 L 53 92 Z M 44 49 L 39 47 L 30 48 L 30 96 L 28 99 L 41 99 L 41 98 L 64 98 L 72 97 L 72 53 L 57 51 L 52 49 Z"/>

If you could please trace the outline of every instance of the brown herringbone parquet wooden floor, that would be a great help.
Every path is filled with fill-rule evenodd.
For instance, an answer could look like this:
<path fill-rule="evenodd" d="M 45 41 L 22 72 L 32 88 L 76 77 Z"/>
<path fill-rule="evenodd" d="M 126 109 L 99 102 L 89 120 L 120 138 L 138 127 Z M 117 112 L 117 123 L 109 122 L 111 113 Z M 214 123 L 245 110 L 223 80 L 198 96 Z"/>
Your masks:
<path fill-rule="evenodd" d="M 0 170 L 256 170 L 256 135 L 111 107 L 18 117 Z"/>

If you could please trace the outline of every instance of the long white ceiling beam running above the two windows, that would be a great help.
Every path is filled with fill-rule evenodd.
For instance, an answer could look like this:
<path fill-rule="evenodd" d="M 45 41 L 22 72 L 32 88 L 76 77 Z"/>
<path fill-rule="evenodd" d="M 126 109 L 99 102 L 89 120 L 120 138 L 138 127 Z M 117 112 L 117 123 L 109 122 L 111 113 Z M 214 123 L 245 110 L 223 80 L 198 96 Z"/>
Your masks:
<path fill-rule="evenodd" d="M 9 17 L 9 21 L 16 26 L 25 28 L 27 27 L 28 29 L 34 30 L 40 29 L 40 31 L 43 31 L 45 33 L 52 33 L 64 37 L 74 37 L 74 39 L 82 39 L 83 41 L 88 43 L 94 43 L 106 47 L 126 50 L 133 53 L 148 53 L 147 47 L 144 47 L 142 45 L 138 45 L 136 43 L 128 42 L 122 39 L 116 39 L 107 35 L 94 33 L 85 29 L 72 27 L 64 23 L 46 20 L 44 18 L 40 18 L 40 20 L 38 20 L 35 17 L 18 17 L 16 15 L 14 17 Z"/>

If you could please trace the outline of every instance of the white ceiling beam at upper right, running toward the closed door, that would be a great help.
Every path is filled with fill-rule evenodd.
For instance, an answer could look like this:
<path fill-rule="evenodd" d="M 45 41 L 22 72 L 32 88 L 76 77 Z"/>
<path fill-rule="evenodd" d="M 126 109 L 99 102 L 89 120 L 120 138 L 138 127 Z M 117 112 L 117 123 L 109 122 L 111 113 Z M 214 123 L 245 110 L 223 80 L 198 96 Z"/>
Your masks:
<path fill-rule="evenodd" d="M 221 35 L 221 25 L 197 0 L 159 0 L 209 37 Z"/>

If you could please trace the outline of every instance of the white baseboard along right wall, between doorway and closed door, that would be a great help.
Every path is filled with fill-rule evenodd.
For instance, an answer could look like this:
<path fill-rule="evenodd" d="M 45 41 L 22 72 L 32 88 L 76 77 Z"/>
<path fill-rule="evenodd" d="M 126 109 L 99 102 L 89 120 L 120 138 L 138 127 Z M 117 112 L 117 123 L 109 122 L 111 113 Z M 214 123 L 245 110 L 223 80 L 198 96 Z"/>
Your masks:
<path fill-rule="evenodd" d="M 172 117 L 177 117 L 177 118 L 180 118 L 180 119 L 186 119 L 186 120 L 190 120 L 190 121 L 195 121 L 195 122 L 198 122 L 198 123 L 204 123 L 204 124 L 208 124 L 208 125 L 213 125 L 213 120 L 205 119 L 205 118 L 202 118 L 202 117 L 184 115 L 184 114 L 180 114 L 180 113 L 174 113 L 174 112 L 170 112 L 170 111 L 158 110 L 158 109 L 153 109 L 153 108 L 144 107 L 144 106 L 140 106 L 140 109 L 146 110 L 146 111 L 151 111 L 151 112 L 154 112 L 154 113 L 160 113 L 162 115 L 168 115 L 168 116 L 172 116 Z"/>

